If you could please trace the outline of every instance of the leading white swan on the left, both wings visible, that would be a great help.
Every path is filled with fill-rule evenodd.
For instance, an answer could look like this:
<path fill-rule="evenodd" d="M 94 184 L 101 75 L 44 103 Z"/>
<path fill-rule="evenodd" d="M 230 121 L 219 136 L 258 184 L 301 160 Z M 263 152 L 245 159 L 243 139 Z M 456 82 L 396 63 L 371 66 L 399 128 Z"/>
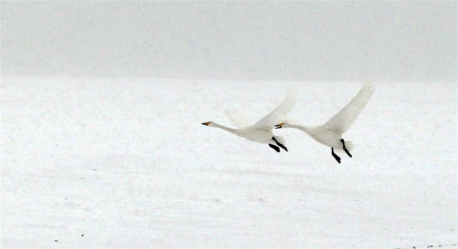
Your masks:
<path fill-rule="evenodd" d="M 227 118 L 239 129 L 221 126 L 220 124 L 212 121 L 202 124 L 209 127 L 223 129 L 253 142 L 266 143 L 277 152 L 280 152 L 280 148 L 278 148 L 278 146 L 288 151 L 287 147 L 283 145 L 284 140 L 281 137 L 274 136 L 272 129 L 274 128 L 274 124 L 282 121 L 281 117 L 283 115 L 291 111 L 295 102 L 296 96 L 294 92 L 291 90 L 288 91 L 287 97 L 277 108 L 251 126 L 248 124 L 247 119 L 238 114 L 236 110 L 226 110 L 225 113 Z"/>

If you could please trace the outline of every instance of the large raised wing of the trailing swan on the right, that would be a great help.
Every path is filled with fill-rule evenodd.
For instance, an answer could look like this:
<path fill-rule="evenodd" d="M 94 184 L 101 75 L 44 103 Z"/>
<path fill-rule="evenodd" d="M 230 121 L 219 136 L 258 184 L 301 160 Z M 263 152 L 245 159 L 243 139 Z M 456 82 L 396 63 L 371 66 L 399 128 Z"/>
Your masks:
<path fill-rule="evenodd" d="M 347 104 L 342 110 L 332 116 L 323 127 L 334 130 L 339 134 L 345 133 L 358 117 L 361 110 L 374 94 L 374 85 L 372 81 L 364 83 L 355 98 Z"/>

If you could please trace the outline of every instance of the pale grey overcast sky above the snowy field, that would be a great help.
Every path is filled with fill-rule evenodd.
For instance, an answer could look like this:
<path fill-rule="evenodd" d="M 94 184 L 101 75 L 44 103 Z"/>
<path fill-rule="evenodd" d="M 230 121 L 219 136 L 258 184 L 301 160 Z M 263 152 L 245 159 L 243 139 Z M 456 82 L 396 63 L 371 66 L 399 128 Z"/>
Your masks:
<path fill-rule="evenodd" d="M 457 81 L 457 2 L 4 2 L 2 75 Z"/>

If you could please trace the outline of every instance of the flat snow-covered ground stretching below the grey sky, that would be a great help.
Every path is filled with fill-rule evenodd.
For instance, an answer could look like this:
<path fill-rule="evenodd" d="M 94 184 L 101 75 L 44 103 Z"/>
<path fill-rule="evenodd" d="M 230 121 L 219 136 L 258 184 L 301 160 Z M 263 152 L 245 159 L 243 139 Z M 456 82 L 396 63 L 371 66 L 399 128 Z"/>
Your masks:
<path fill-rule="evenodd" d="M 295 87 L 319 124 L 361 82 L 2 77 L 2 247 L 457 244 L 456 84 L 376 83 L 337 164 L 300 131 L 276 153 L 201 123 Z"/>

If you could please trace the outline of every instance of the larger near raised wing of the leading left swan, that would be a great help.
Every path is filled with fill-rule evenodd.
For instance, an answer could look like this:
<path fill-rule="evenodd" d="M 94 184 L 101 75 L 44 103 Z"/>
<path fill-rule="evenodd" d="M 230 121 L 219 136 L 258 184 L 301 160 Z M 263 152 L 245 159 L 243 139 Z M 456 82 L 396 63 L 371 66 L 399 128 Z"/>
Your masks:
<path fill-rule="evenodd" d="M 284 116 L 293 109 L 294 104 L 296 103 L 296 92 L 294 90 L 289 90 L 287 97 L 284 101 L 269 114 L 261 118 L 259 121 L 253 124 L 253 128 L 263 129 L 266 131 L 272 131 L 275 124 L 278 124 L 284 120 Z"/>

